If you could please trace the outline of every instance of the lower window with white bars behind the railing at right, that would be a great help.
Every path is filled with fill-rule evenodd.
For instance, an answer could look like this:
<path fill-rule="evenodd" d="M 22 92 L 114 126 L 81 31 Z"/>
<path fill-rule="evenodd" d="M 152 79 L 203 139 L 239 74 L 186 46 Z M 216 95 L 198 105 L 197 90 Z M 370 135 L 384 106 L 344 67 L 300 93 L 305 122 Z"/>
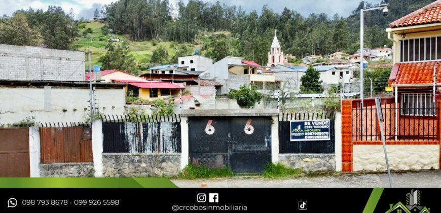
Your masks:
<path fill-rule="evenodd" d="M 432 93 L 402 93 L 401 115 L 436 116 Z"/>

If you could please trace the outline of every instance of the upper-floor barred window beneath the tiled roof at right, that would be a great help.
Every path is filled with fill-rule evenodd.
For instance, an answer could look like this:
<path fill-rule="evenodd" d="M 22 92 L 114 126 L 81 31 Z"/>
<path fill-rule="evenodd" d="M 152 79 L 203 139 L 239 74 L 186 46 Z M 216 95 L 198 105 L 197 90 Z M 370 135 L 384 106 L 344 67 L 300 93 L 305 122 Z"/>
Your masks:
<path fill-rule="evenodd" d="M 400 62 L 441 59 L 441 37 L 399 41 Z"/>

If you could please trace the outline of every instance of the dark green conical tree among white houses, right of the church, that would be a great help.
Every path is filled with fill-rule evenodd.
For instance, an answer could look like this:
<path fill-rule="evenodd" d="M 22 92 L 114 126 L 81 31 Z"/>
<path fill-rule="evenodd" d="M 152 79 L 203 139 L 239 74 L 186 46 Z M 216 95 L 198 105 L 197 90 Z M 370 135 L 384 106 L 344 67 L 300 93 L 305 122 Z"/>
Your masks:
<path fill-rule="evenodd" d="M 323 92 L 323 87 L 321 86 L 323 81 L 320 80 L 320 73 L 312 65 L 308 66 L 306 74 L 300 78 L 300 81 L 302 82 L 302 86 L 300 86 L 302 93 Z"/>

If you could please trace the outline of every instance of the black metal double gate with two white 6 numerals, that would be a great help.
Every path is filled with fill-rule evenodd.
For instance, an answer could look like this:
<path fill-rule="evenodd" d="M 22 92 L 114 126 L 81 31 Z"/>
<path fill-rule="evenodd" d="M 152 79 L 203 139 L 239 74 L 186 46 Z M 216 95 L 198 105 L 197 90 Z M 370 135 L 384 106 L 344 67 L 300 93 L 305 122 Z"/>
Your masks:
<path fill-rule="evenodd" d="M 193 165 L 260 173 L 271 162 L 271 117 L 190 117 Z"/>

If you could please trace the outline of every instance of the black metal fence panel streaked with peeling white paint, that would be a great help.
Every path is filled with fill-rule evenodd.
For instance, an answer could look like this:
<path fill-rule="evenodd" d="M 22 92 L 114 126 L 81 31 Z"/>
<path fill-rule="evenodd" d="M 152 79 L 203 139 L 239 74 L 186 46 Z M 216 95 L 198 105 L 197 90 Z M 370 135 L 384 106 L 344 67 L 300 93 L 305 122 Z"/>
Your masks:
<path fill-rule="evenodd" d="M 103 116 L 103 153 L 180 153 L 180 117 Z"/>

